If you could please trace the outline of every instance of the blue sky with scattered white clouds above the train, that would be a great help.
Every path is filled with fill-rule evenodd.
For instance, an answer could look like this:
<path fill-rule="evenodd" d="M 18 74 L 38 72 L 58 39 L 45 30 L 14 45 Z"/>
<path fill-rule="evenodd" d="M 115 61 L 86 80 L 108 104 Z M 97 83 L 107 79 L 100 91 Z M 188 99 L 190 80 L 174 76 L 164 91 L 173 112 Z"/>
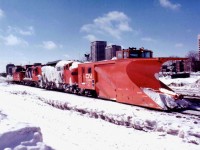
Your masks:
<path fill-rule="evenodd" d="M 184 57 L 198 49 L 199 8 L 199 0 L 0 0 L 0 72 L 82 59 L 94 40 Z"/>

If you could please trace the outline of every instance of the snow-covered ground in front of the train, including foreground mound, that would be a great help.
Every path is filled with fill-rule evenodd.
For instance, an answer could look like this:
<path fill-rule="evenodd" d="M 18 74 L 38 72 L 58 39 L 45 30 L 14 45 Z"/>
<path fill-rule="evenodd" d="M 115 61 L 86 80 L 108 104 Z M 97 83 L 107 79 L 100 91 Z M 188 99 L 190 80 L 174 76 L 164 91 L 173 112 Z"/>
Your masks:
<path fill-rule="evenodd" d="M 0 149 L 199 150 L 200 119 L 0 78 Z"/>

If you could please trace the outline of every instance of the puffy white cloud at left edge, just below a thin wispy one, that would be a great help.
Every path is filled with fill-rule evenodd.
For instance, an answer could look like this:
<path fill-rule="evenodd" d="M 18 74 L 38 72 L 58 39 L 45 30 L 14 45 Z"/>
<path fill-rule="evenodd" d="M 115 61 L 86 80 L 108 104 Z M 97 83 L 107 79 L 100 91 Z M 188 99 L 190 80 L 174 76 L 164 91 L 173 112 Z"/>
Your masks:
<path fill-rule="evenodd" d="M 28 42 L 26 42 L 24 39 L 19 38 L 15 35 L 9 34 L 5 37 L 0 37 L 3 40 L 3 43 L 7 46 L 27 46 Z"/>

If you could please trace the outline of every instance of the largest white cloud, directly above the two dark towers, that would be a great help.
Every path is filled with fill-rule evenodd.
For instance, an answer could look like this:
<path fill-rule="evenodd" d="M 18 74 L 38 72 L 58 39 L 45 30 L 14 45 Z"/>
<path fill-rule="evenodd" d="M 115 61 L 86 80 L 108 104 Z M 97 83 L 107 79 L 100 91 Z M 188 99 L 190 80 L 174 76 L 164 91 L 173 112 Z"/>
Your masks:
<path fill-rule="evenodd" d="M 110 35 L 120 39 L 122 33 L 133 31 L 129 21 L 129 17 L 123 12 L 111 11 L 102 17 L 94 19 L 92 24 L 83 25 L 81 31 L 88 33 L 88 39 L 93 38 L 94 34 Z"/>

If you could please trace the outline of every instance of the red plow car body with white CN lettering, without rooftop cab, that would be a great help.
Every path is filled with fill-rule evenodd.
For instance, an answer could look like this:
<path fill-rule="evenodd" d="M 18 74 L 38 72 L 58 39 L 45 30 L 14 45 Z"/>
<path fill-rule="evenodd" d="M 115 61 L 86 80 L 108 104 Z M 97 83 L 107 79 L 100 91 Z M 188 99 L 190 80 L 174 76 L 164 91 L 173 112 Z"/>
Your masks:
<path fill-rule="evenodd" d="M 176 94 L 156 78 L 168 60 L 184 58 L 133 58 L 79 65 L 79 87 L 95 90 L 100 98 L 168 110 L 178 107 Z M 165 89 L 165 90 L 161 90 Z"/>

